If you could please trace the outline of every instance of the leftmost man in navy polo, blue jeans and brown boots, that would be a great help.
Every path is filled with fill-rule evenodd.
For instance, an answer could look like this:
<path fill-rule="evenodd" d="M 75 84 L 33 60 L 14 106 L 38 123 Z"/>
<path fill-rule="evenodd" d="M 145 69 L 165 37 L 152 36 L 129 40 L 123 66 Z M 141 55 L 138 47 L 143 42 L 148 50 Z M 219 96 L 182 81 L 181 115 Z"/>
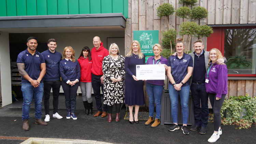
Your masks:
<path fill-rule="evenodd" d="M 35 124 L 47 125 L 47 123 L 41 119 L 43 98 L 43 81 L 41 80 L 44 77 L 46 67 L 43 55 L 36 51 L 37 45 L 37 38 L 29 37 L 27 40 L 28 48 L 19 53 L 17 58 L 18 70 L 22 75 L 22 129 L 25 131 L 29 130 L 29 110 L 33 96 L 35 104 Z"/>

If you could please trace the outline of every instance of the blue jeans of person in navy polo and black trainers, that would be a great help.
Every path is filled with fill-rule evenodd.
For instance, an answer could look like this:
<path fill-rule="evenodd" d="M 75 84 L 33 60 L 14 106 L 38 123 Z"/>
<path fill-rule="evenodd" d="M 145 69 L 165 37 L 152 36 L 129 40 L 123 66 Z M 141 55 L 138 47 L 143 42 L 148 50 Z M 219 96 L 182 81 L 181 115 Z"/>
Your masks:
<path fill-rule="evenodd" d="M 169 84 L 169 95 L 173 123 L 178 123 L 178 96 L 180 95 L 183 124 L 187 124 L 189 85 L 183 86 L 180 91 L 177 91 L 173 85 Z"/>

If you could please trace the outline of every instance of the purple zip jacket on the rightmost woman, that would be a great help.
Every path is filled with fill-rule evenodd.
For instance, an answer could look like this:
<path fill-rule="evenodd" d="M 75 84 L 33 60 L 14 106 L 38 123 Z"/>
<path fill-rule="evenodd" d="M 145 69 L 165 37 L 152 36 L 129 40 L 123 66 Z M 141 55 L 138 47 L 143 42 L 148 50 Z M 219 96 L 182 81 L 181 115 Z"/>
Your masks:
<path fill-rule="evenodd" d="M 211 64 L 209 68 L 211 67 Z M 208 69 L 209 69 L 208 68 Z M 207 73 L 205 74 L 207 79 Z M 216 97 L 228 93 L 228 68 L 226 64 L 214 63 L 208 74 L 208 83 L 205 83 L 206 92 L 216 93 Z"/>

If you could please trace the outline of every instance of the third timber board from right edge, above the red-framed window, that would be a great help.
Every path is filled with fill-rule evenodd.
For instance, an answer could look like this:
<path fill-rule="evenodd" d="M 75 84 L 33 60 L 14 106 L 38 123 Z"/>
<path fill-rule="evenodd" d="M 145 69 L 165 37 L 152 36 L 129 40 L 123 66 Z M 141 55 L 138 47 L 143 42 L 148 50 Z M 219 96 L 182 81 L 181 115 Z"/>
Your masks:
<path fill-rule="evenodd" d="M 232 0 L 231 24 L 239 24 L 240 0 Z"/>

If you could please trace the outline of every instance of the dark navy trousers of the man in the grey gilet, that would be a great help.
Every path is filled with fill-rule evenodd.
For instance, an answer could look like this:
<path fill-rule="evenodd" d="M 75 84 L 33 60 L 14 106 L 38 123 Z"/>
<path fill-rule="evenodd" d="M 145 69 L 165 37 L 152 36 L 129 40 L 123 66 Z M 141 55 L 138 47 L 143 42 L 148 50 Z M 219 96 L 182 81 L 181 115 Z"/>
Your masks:
<path fill-rule="evenodd" d="M 196 125 L 205 127 L 208 124 L 209 109 L 208 109 L 208 93 L 205 89 L 205 83 L 197 84 L 192 82 L 190 86 L 191 95 L 194 102 L 194 115 Z M 200 107 L 201 103 L 201 107 Z"/>

